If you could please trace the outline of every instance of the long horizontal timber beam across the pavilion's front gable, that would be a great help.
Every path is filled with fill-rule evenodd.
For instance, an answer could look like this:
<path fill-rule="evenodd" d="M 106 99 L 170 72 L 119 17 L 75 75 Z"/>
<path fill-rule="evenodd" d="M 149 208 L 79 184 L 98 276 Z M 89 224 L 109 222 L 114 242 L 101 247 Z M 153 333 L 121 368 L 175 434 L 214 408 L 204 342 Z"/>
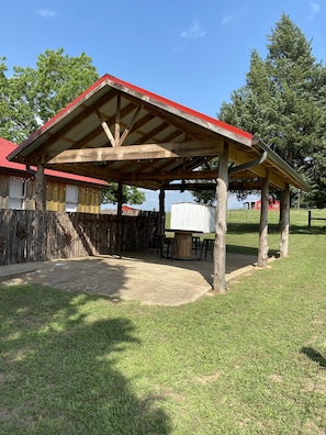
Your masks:
<path fill-rule="evenodd" d="M 114 143 L 114 137 L 112 136 L 111 131 L 110 134 L 110 142 L 112 141 Z M 110 160 L 123 161 L 173 157 L 195 157 L 205 155 L 218 156 L 221 153 L 222 143 L 220 141 L 190 141 L 162 144 L 128 145 L 115 148 L 101 147 L 67 149 L 58 154 L 56 157 L 53 157 L 47 161 L 47 164 L 76 164 Z"/>

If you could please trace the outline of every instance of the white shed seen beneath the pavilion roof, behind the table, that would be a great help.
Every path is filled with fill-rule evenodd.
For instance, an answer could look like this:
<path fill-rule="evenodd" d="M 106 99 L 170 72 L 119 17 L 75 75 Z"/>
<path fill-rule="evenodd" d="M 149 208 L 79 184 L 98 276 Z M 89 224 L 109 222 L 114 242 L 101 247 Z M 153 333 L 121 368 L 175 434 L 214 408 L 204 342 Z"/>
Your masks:
<path fill-rule="evenodd" d="M 215 231 L 216 210 L 213 205 L 193 202 L 177 202 L 171 204 L 172 230 L 213 233 Z"/>

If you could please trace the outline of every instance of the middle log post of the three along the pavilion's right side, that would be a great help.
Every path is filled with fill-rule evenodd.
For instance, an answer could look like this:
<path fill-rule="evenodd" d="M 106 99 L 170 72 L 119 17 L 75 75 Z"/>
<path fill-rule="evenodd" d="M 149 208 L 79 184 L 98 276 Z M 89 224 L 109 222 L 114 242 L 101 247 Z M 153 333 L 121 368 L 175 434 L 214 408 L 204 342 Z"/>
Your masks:
<path fill-rule="evenodd" d="M 258 267 L 267 267 L 267 263 L 268 263 L 268 203 L 269 203 L 269 186 L 268 186 L 268 178 L 265 178 L 261 188 Z"/>

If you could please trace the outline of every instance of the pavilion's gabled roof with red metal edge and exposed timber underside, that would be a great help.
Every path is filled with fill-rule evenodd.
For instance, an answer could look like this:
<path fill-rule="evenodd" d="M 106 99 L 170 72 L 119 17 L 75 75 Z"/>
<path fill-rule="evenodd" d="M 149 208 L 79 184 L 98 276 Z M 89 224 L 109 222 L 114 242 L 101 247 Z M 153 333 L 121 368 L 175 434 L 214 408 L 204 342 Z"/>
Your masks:
<path fill-rule="evenodd" d="M 225 142 L 229 160 L 237 165 L 236 179 L 252 178 L 257 186 L 268 170 L 276 188 L 283 189 L 285 182 L 307 188 L 294 169 L 250 133 L 109 75 L 32 134 L 8 159 L 35 167 L 44 155 L 45 168 L 75 174 L 72 177 L 91 175 L 157 190 L 177 180 L 214 180 L 214 170 L 202 168 L 220 155 L 218 146 L 224 147 Z M 176 152 L 171 152 L 173 144 Z M 170 154 L 165 154 L 166 147 Z M 81 152 L 86 148 L 88 157 Z M 63 157 L 64 153 L 68 157 Z M 267 157 L 261 160 L 262 156 Z"/>

